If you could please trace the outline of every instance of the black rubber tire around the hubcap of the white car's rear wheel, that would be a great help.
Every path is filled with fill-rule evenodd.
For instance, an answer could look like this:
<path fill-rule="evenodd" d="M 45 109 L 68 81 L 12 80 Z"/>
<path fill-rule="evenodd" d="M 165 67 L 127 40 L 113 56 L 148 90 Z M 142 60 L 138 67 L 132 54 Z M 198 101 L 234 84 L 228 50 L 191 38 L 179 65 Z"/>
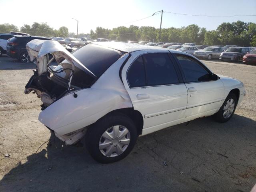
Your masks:
<path fill-rule="evenodd" d="M 100 152 L 99 142 L 102 134 L 112 126 L 124 126 L 130 132 L 130 143 L 124 152 L 114 157 L 107 157 Z M 137 140 L 137 130 L 134 122 L 126 115 L 113 113 L 106 115 L 92 124 L 85 136 L 86 148 L 94 160 L 99 163 L 112 163 L 125 158 L 133 149 Z"/>

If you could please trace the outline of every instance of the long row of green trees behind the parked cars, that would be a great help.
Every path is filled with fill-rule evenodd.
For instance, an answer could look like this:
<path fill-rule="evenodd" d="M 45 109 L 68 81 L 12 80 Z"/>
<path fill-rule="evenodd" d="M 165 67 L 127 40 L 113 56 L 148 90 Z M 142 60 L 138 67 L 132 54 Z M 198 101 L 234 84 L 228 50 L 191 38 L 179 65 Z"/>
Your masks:
<path fill-rule="evenodd" d="M 89 34 L 78 34 L 78 37 L 90 36 L 92 39 L 107 38 L 120 41 L 158 41 L 159 28 L 151 26 L 119 26 L 117 28 L 107 29 L 97 27 L 96 30 L 90 30 Z M 34 22 L 31 26 L 24 24 L 20 29 L 13 24 L 0 24 L 0 32 L 8 33 L 10 31 L 25 32 L 35 36 L 60 36 L 76 37 L 75 33 L 69 33 L 65 26 L 58 30 L 51 28 L 47 23 Z M 181 28 L 163 28 L 161 30 L 160 42 L 190 42 L 206 45 L 226 45 L 233 44 L 239 46 L 256 46 L 256 23 L 252 22 L 232 22 L 222 23 L 216 30 L 207 31 L 206 28 L 200 28 L 192 24 Z"/>

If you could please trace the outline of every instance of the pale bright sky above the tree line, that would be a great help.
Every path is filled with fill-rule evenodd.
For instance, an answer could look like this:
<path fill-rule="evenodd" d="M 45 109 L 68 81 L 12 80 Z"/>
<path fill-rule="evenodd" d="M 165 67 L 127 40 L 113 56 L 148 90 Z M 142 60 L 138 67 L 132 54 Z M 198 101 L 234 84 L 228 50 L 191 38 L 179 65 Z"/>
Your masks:
<path fill-rule="evenodd" d="M 18 26 L 46 22 L 54 29 L 66 26 L 69 32 L 90 33 L 97 26 L 112 29 L 118 26 L 160 27 L 164 10 L 197 15 L 256 15 L 256 0 L 0 0 L 0 24 Z M 149 18 L 146 18 L 151 16 Z M 142 18 L 146 18 L 140 20 Z M 136 21 L 140 20 L 140 21 Z M 255 22 L 256 16 L 199 17 L 163 13 L 162 28 L 197 24 L 215 30 L 223 22 Z M 136 21 L 136 22 L 134 22 Z"/>

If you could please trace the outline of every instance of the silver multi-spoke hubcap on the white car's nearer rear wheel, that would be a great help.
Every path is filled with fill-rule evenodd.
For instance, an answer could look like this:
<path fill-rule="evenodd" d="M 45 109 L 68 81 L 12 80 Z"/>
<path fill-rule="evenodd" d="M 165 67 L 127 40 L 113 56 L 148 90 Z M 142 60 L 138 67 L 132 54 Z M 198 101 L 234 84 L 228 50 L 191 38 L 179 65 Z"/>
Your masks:
<path fill-rule="evenodd" d="M 107 157 L 116 157 L 124 152 L 130 143 L 130 132 L 122 126 L 108 128 L 100 137 L 100 152 Z"/>

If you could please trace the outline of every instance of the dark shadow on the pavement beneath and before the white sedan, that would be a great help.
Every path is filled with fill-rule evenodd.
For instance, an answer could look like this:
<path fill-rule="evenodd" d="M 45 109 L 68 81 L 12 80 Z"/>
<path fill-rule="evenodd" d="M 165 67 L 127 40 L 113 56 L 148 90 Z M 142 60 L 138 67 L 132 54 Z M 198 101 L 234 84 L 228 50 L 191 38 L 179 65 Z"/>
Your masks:
<path fill-rule="evenodd" d="M 84 142 L 65 146 L 51 134 L 47 147 L 42 143 L 26 163 L 20 162 L 3 177 L 0 191 L 248 191 L 253 177 L 246 178 L 246 186 L 232 185 L 230 177 L 234 171 L 246 171 L 247 164 L 256 166 L 253 157 L 243 156 L 241 162 L 241 156 L 231 157 L 227 150 L 254 149 L 255 156 L 255 128 L 256 121 L 236 114 L 227 123 L 214 122 L 211 117 L 197 119 L 138 138 L 129 156 L 112 164 L 95 162 Z M 206 168 L 193 167 L 204 158 Z M 233 161 L 244 164 L 229 174 L 226 166 Z M 210 168 L 212 180 L 201 178 Z"/>

